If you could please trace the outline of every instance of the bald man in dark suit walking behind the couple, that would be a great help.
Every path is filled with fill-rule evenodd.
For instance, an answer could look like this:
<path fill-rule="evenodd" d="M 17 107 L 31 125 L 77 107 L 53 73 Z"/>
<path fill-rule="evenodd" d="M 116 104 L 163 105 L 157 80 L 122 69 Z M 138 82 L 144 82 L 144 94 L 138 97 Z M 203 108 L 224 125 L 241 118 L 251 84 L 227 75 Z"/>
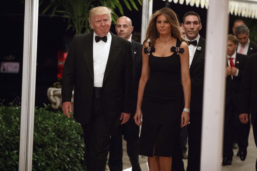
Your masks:
<path fill-rule="evenodd" d="M 131 33 L 134 27 L 132 21 L 126 16 L 117 19 L 115 30 L 117 35 L 125 38 L 132 43 L 132 52 L 134 59 L 134 95 L 132 115 L 129 120 L 119 125 L 111 134 L 110 139 L 110 154 L 108 165 L 110 171 L 122 171 L 122 135 L 124 140 L 127 141 L 127 154 L 130 158 L 132 171 L 141 171 L 139 165 L 139 126 L 135 124 L 134 114 L 137 108 L 137 91 L 138 84 L 142 71 L 142 48 L 143 45 L 131 39 Z"/>

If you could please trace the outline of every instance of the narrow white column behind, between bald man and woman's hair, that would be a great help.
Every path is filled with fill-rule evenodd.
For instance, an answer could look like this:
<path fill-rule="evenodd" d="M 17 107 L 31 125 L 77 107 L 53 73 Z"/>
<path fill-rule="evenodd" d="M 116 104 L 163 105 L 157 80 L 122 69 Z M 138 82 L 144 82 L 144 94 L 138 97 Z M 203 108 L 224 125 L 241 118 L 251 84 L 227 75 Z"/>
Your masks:
<path fill-rule="evenodd" d="M 145 40 L 145 33 L 148 27 L 149 18 L 152 15 L 152 1 L 143 0 L 142 3 L 142 24 L 141 24 L 141 43 Z"/>

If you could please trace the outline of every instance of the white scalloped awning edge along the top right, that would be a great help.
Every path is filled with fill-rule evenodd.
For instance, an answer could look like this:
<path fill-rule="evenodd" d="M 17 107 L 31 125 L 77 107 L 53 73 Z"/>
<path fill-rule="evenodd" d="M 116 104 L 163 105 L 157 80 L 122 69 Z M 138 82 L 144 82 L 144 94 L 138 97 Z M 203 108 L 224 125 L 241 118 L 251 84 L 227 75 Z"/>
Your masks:
<path fill-rule="evenodd" d="M 166 1 L 166 0 L 163 0 Z M 185 4 L 208 9 L 210 0 L 168 0 L 175 4 Z M 228 12 L 231 15 L 257 19 L 257 0 L 234 0 L 229 1 Z"/>

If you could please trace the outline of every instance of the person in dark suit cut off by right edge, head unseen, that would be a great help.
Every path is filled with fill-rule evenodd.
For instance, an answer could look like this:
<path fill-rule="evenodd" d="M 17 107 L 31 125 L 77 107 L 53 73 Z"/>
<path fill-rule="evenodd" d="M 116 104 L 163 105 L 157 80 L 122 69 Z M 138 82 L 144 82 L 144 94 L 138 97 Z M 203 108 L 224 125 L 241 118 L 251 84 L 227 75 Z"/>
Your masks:
<path fill-rule="evenodd" d="M 249 122 L 253 125 L 253 137 L 257 147 L 257 53 L 246 60 L 243 78 L 239 92 L 238 113 L 241 123 Z M 255 169 L 257 170 L 257 160 Z"/>

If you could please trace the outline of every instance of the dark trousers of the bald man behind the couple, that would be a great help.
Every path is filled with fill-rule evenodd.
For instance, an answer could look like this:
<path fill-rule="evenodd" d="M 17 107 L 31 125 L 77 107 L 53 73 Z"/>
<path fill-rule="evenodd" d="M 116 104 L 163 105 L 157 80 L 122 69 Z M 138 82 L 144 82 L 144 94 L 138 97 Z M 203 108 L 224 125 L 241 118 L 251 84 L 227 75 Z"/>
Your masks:
<path fill-rule="evenodd" d="M 139 165 L 139 126 L 133 116 L 127 123 L 119 125 L 111 134 L 108 165 L 110 171 L 122 171 L 122 135 L 127 141 L 127 154 L 130 158 L 132 171 L 141 171 Z"/>

